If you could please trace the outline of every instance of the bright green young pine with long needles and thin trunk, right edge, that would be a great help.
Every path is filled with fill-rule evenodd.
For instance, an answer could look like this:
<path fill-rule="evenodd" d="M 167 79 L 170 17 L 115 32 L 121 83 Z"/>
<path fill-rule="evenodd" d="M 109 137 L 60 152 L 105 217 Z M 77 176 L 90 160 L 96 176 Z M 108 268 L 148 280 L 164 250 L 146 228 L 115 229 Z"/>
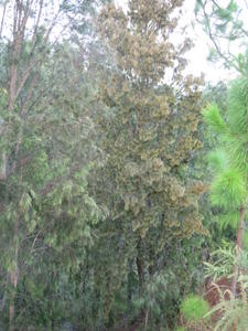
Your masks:
<path fill-rule="evenodd" d="M 216 105 L 209 105 L 203 116 L 219 137 L 222 146 L 212 154 L 215 178 L 212 183 L 212 203 L 222 207 L 224 221 L 238 227 L 237 247 L 242 247 L 244 221 L 247 202 L 247 77 L 231 83 L 225 119 Z M 239 214 L 239 216 L 238 216 Z M 238 265 L 233 277 L 236 295 Z"/>

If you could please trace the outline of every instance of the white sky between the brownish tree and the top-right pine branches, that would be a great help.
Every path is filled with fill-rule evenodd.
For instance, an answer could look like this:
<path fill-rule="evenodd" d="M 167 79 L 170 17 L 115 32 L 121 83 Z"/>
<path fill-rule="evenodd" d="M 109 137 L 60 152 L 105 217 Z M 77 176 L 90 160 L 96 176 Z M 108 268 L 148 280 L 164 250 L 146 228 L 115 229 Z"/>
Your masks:
<path fill-rule="evenodd" d="M 152 1 L 152 0 L 151 0 Z M 127 8 L 128 0 L 115 0 L 117 6 Z M 228 0 L 223 0 L 223 4 L 227 4 Z M 236 0 L 239 6 L 244 6 L 242 0 Z M 185 54 L 185 57 L 188 61 L 187 72 L 192 73 L 195 76 L 200 76 L 201 73 L 204 73 L 205 79 L 207 82 L 217 83 L 219 81 L 229 81 L 236 76 L 236 73 L 228 72 L 225 70 L 220 63 L 211 63 L 207 61 L 209 54 L 209 49 L 213 47 L 209 39 L 203 32 L 200 24 L 194 24 L 194 8 L 195 0 L 185 0 L 183 6 L 183 14 L 180 20 L 182 25 L 187 25 L 186 35 L 190 36 L 194 42 L 194 47 Z"/>

